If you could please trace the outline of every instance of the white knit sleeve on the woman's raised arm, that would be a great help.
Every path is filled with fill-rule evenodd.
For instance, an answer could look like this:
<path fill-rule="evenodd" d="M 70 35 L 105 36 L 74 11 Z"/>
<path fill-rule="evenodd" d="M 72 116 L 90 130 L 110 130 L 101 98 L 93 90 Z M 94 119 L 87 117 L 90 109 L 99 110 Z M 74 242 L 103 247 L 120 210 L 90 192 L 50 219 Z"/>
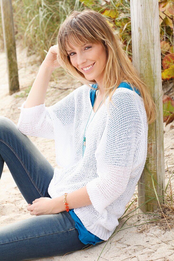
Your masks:
<path fill-rule="evenodd" d="M 60 124 L 70 126 L 73 122 L 76 90 L 49 107 L 40 104 L 31 108 L 23 108 L 24 102 L 21 107 L 18 107 L 21 109 L 17 123 L 19 131 L 25 135 L 55 139 L 55 128 Z"/>

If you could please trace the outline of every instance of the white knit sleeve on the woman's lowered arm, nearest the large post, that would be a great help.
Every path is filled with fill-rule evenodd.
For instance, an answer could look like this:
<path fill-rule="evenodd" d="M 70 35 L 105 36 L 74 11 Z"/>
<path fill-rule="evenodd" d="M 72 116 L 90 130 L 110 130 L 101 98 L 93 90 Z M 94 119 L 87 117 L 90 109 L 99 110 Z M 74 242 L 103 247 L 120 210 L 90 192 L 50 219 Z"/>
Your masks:
<path fill-rule="evenodd" d="M 142 129 L 136 102 L 127 95 L 118 91 L 112 98 L 116 108 L 110 106 L 111 117 L 95 151 L 98 177 L 86 184 L 92 205 L 100 214 L 126 190 Z"/>

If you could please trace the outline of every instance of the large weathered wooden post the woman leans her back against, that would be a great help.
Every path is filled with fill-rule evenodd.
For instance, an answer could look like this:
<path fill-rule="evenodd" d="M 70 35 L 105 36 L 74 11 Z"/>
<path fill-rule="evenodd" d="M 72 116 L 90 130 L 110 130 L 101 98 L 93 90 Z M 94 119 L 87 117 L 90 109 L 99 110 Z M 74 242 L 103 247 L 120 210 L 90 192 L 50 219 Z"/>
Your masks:
<path fill-rule="evenodd" d="M 158 0 L 130 0 L 133 65 L 147 82 L 157 106 L 158 115 L 148 127 L 148 149 L 146 165 L 159 185 L 165 190 L 163 91 L 161 81 L 161 50 L 159 33 Z M 151 175 L 146 167 L 138 184 L 139 205 L 155 197 Z M 163 190 L 154 182 L 160 196 Z M 152 190 L 151 190 L 152 189 Z M 165 198 L 165 197 L 164 197 Z M 164 204 L 158 197 L 159 202 Z M 143 212 L 159 208 L 157 200 L 151 200 L 141 207 Z"/>

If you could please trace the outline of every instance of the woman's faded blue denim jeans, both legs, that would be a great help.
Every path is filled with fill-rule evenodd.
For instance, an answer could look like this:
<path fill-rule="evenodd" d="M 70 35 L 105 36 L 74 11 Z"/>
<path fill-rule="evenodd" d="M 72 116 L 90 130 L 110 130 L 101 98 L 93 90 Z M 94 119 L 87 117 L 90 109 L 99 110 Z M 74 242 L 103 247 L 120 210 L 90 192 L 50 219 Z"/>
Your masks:
<path fill-rule="evenodd" d="M 14 122 L 0 117 L 0 178 L 4 161 L 28 204 L 50 197 L 54 168 Z M 0 228 L 0 261 L 61 256 L 95 245 L 83 244 L 70 213 L 33 216 Z M 96 245 L 101 244 L 101 242 Z"/>

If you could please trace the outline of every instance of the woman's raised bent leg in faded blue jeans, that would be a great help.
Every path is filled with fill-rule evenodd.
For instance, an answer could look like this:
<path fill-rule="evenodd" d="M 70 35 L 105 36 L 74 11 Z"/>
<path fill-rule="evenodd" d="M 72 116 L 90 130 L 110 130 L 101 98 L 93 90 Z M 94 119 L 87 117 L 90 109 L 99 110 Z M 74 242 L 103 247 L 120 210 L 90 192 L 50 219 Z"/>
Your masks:
<path fill-rule="evenodd" d="M 0 178 L 4 161 L 28 204 L 47 192 L 54 168 L 14 122 L 0 117 Z"/>

